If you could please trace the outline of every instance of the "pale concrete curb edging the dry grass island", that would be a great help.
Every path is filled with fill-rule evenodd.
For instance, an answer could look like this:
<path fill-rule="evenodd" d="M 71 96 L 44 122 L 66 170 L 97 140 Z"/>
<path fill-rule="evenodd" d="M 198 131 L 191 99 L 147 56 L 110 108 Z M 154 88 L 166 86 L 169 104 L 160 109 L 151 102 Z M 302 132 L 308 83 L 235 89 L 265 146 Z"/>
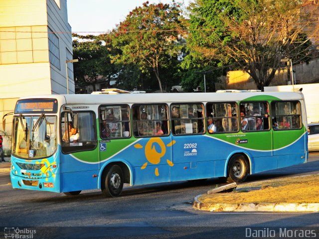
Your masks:
<path fill-rule="evenodd" d="M 194 198 L 193 208 L 209 212 L 319 212 L 319 203 L 212 203 L 204 204 Z"/>

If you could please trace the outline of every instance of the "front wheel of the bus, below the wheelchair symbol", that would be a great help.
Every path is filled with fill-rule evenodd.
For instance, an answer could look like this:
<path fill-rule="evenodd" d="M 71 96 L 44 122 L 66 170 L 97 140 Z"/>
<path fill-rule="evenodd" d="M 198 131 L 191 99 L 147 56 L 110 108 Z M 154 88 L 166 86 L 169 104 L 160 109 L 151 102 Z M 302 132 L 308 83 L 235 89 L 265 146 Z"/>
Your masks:
<path fill-rule="evenodd" d="M 104 196 L 120 196 L 123 189 L 124 176 L 123 171 L 119 165 L 113 165 L 109 169 L 107 169 L 102 180 L 103 181 L 101 183 L 101 189 Z"/>

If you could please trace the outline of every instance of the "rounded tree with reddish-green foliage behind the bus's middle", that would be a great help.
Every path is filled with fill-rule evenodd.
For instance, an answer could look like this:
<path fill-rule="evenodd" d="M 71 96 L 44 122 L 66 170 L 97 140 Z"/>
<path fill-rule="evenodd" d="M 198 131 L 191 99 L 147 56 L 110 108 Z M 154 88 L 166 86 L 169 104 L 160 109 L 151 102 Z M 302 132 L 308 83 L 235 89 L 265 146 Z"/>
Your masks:
<path fill-rule="evenodd" d="M 160 71 L 169 69 L 171 58 L 179 50 L 175 29 L 181 23 L 179 5 L 149 4 L 136 7 L 113 32 L 112 44 L 121 53 L 113 56 L 114 63 L 134 64 L 142 73 L 150 70 L 158 80 L 163 92 Z"/>

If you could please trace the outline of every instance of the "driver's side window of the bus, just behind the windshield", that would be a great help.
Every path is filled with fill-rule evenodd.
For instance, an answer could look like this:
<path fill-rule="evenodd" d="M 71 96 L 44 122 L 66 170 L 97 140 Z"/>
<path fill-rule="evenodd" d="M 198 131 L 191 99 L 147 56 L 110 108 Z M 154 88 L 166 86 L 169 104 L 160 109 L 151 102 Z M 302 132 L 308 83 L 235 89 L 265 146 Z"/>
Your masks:
<path fill-rule="evenodd" d="M 73 122 L 77 115 L 77 125 Z M 61 114 L 62 152 L 71 153 L 92 150 L 97 145 L 95 115 L 93 112 L 73 112 Z"/>

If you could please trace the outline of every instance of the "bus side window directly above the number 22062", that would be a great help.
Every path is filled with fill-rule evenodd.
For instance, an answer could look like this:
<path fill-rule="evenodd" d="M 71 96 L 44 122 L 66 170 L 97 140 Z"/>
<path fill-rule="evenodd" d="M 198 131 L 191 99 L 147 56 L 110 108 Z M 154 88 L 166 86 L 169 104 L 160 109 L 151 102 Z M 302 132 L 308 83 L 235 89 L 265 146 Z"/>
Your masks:
<path fill-rule="evenodd" d="M 174 135 L 204 133 L 203 104 L 172 104 L 170 118 Z"/>

